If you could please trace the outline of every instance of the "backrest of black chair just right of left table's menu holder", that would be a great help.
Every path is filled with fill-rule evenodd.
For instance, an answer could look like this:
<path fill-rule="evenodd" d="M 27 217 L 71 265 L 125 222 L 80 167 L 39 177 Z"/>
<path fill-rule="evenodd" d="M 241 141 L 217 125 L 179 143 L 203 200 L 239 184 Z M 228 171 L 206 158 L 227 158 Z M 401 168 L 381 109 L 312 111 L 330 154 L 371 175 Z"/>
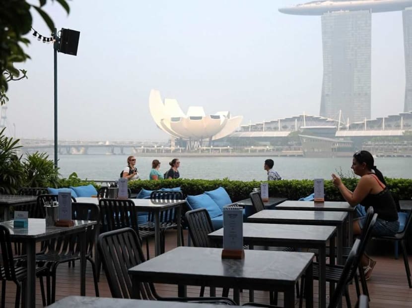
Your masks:
<path fill-rule="evenodd" d="M 75 220 L 95 220 L 97 223 L 86 230 L 86 256 L 90 256 L 99 234 L 100 209 L 94 203 L 73 202 L 71 204 L 71 218 Z M 80 250 L 78 250 L 80 252 Z"/>

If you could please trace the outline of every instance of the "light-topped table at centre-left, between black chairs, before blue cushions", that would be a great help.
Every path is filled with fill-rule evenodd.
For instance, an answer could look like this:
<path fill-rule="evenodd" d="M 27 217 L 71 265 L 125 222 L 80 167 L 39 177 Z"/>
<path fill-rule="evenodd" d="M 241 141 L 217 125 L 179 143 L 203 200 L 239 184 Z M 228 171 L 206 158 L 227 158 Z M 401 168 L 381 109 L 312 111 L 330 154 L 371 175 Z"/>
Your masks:
<path fill-rule="evenodd" d="M 99 205 L 99 200 L 102 198 L 87 198 L 78 197 L 76 202 L 82 203 L 94 203 Z M 186 203 L 186 200 L 151 200 L 151 199 L 129 199 L 135 204 L 137 211 L 152 212 L 154 216 L 154 255 L 160 255 L 160 212 L 166 209 L 175 208 L 177 217 L 182 214 L 182 206 Z M 181 246 L 181 223 L 180 219 L 177 219 L 177 246 Z"/>

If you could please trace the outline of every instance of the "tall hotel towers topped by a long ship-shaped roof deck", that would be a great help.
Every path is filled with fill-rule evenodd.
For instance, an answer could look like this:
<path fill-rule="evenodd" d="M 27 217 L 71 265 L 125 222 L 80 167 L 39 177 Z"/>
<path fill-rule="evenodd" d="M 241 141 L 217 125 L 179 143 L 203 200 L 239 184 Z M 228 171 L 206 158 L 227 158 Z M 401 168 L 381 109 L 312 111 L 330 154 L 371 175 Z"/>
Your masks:
<path fill-rule="evenodd" d="M 412 111 L 412 0 L 318 0 L 279 9 L 286 14 L 321 16 L 321 116 L 337 119 L 341 110 L 350 123 L 370 119 L 372 13 L 399 10 L 404 28 L 404 112 L 408 112 Z"/>

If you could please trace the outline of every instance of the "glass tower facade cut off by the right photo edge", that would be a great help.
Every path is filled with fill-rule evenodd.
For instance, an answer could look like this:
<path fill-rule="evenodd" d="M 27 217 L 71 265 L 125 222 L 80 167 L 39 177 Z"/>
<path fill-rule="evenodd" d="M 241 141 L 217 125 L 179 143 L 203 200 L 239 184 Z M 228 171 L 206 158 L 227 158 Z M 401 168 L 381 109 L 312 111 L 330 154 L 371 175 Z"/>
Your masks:
<path fill-rule="evenodd" d="M 404 48 L 405 48 L 405 107 L 404 111 L 412 111 L 412 7 L 403 12 L 404 19 Z"/>

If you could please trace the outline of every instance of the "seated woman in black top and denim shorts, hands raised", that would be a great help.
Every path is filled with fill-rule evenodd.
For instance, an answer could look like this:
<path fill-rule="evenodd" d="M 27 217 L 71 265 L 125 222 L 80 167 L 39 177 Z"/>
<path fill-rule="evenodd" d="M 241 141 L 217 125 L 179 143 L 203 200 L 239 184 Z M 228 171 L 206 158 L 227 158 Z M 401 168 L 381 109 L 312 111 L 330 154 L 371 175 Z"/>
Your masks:
<path fill-rule="evenodd" d="M 372 234 L 375 236 L 394 235 L 398 232 L 399 221 L 398 211 L 391 192 L 386 186 L 382 173 L 374 165 L 372 154 L 367 151 L 357 151 L 353 154 L 353 173 L 360 176 L 360 180 L 353 192 L 348 190 L 341 179 L 332 174 L 332 182 L 339 189 L 343 198 L 352 206 L 361 204 L 367 210 L 373 206 L 373 210 L 378 214 Z M 366 217 L 353 221 L 353 234 L 361 234 Z M 369 279 L 376 261 L 366 254 L 361 258 L 361 263 L 365 271 L 365 278 Z"/>

